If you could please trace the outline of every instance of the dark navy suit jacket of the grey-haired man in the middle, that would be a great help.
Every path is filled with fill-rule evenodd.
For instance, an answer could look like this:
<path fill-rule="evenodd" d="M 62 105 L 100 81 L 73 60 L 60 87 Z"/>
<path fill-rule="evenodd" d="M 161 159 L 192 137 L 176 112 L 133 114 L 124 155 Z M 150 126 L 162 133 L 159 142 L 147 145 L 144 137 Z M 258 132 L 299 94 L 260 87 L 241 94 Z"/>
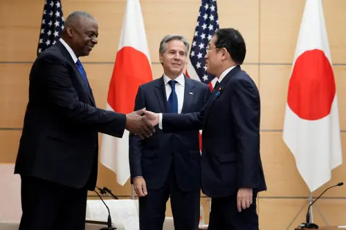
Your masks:
<path fill-rule="evenodd" d="M 210 88 L 206 84 L 185 77 L 185 94 L 181 113 L 200 111 L 208 101 Z M 138 88 L 135 110 L 167 113 L 167 97 L 163 77 Z M 156 133 L 143 141 L 129 136 L 129 164 L 131 182 L 137 176 L 145 178 L 148 189 L 159 189 L 167 179 L 171 163 L 182 191 L 201 189 L 199 131 Z M 172 162 L 173 160 L 173 162 Z"/>

